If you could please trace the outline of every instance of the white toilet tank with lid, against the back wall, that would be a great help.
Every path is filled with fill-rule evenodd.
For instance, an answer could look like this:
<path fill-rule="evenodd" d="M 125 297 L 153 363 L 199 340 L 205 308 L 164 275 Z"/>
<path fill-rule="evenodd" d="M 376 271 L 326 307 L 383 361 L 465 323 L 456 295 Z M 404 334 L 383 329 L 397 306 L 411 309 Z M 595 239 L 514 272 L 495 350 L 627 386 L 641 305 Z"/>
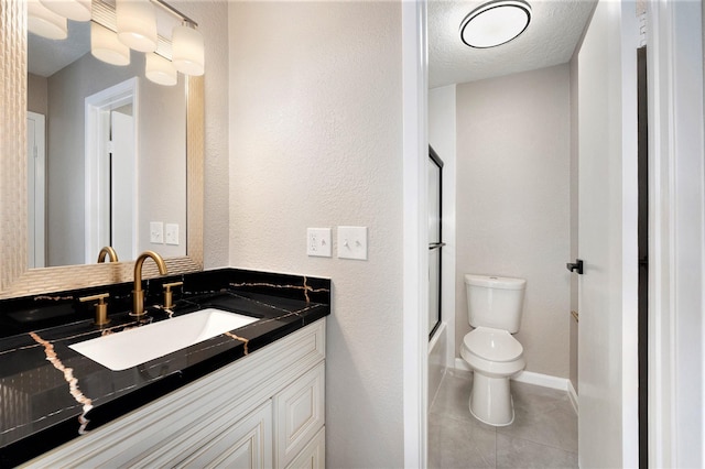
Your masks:
<path fill-rule="evenodd" d="M 524 279 L 495 275 L 465 275 L 467 316 L 470 326 L 519 330 L 524 302 Z"/>

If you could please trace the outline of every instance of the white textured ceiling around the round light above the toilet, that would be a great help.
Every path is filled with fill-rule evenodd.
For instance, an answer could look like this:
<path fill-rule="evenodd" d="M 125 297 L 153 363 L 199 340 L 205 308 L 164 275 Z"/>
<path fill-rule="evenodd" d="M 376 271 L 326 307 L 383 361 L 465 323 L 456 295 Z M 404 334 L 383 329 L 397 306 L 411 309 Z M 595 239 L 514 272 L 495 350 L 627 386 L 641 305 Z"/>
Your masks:
<path fill-rule="evenodd" d="M 532 19 L 516 40 L 492 48 L 460 42 L 460 22 L 485 1 L 429 0 L 429 86 L 564 64 L 583 35 L 596 0 L 529 0 Z"/>

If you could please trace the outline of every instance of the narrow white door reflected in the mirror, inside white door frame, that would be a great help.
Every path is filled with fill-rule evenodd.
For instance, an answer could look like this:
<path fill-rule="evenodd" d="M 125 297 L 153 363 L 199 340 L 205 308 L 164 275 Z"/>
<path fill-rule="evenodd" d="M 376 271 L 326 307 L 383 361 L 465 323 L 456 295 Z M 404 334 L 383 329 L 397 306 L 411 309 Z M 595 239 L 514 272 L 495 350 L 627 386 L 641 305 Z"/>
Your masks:
<path fill-rule="evenodd" d="M 110 246 L 120 259 L 137 258 L 135 242 L 135 149 L 133 117 L 112 111 L 110 159 Z"/>

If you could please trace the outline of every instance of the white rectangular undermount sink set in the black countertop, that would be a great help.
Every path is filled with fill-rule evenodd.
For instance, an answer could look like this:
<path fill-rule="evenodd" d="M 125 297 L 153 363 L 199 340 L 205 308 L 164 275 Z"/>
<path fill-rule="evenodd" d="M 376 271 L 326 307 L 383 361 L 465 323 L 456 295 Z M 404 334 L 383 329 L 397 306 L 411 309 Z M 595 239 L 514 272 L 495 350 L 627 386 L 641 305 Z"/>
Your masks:
<path fill-rule="evenodd" d="M 68 347 L 112 371 L 121 371 L 257 320 L 256 317 L 207 308 Z"/>

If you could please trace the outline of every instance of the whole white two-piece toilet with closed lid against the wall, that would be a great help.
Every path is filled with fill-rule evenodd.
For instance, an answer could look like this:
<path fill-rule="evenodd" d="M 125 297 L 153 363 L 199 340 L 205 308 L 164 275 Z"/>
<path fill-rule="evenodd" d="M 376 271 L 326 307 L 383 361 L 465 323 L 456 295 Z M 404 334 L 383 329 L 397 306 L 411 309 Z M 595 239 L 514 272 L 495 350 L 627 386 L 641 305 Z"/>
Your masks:
<path fill-rule="evenodd" d="M 465 275 L 468 320 L 475 328 L 460 347 L 460 357 L 475 371 L 470 413 L 494 426 L 514 421 L 509 379 L 527 362 L 511 335 L 519 330 L 525 286 L 524 279 Z"/>

